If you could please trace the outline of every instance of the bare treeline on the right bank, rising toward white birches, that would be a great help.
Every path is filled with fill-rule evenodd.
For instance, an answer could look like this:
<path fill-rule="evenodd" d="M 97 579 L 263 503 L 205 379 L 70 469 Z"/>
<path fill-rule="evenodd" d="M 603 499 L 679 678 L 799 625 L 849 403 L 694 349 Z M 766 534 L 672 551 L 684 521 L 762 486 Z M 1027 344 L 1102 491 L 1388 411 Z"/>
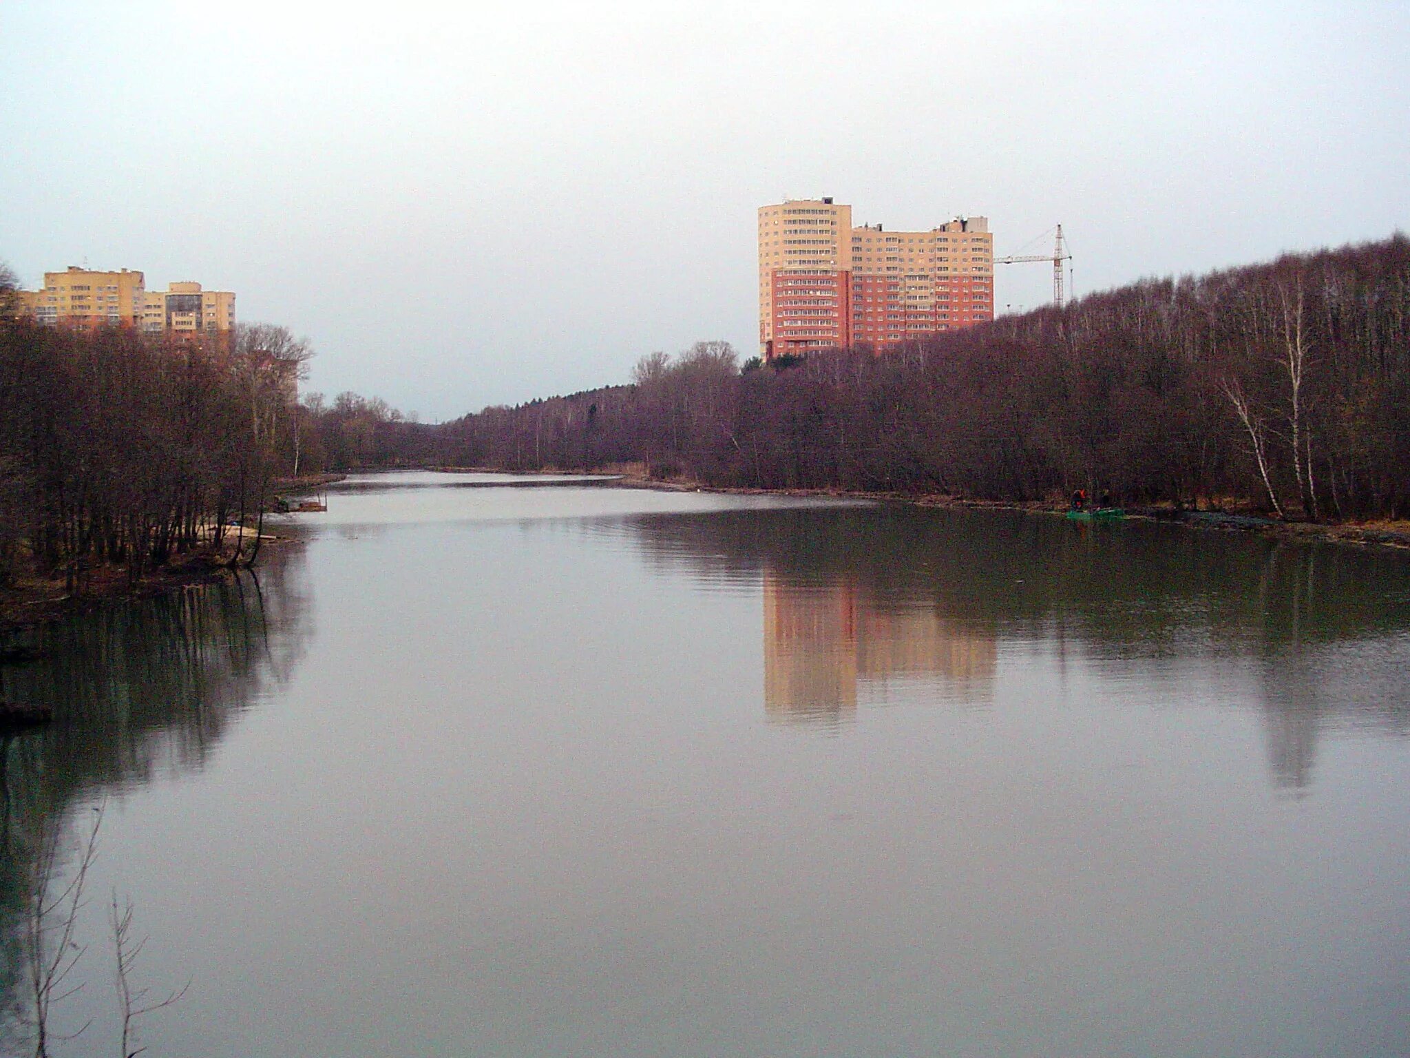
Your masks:
<path fill-rule="evenodd" d="M 644 461 L 759 488 L 994 499 L 1110 490 L 1290 518 L 1410 513 L 1410 240 L 1151 279 L 904 348 L 740 371 L 702 343 L 633 384 L 486 408 L 416 457 Z"/>

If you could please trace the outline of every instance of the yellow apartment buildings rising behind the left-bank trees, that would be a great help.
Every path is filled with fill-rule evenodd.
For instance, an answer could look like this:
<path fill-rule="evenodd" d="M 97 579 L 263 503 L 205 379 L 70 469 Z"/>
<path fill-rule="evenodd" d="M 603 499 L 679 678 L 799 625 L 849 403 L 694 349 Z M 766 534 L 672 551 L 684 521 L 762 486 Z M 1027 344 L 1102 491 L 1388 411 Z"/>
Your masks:
<path fill-rule="evenodd" d="M 45 272 L 44 289 L 18 291 L 20 312 L 44 324 L 92 329 L 137 327 L 144 333 L 228 337 L 235 326 L 235 295 L 171 284 L 148 291 L 141 272 L 96 272 L 70 265 Z"/>

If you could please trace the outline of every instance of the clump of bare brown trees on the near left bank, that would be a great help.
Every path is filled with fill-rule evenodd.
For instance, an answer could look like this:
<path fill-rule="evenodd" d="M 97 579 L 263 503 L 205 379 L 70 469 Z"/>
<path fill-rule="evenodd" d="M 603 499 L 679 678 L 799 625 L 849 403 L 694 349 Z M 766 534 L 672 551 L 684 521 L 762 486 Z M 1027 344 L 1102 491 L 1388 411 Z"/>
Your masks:
<path fill-rule="evenodd" d="M 31 567 L 80 587 L 107 563 L 138 580 L 202 546 L 252 561 L 258 533 L 230 550 L 226 526 L 288 468 L 307 357 L 282 327 L 190 343 L 0 312 L 0 587 Z"/>

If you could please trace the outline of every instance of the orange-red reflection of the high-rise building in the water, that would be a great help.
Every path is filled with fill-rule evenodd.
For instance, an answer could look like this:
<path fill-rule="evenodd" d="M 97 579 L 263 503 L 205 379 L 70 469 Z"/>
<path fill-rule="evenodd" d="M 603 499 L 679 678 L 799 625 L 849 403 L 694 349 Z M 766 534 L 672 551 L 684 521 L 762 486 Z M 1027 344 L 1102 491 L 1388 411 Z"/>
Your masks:
<path fill-rule="evenodd" d="M 987 688 L 997 647 L 932 608 L 878 605 L 853 581 L 797 584 L 764 571 L 764 711 L 838 719 L 863 683 L 933 677 Z"/>

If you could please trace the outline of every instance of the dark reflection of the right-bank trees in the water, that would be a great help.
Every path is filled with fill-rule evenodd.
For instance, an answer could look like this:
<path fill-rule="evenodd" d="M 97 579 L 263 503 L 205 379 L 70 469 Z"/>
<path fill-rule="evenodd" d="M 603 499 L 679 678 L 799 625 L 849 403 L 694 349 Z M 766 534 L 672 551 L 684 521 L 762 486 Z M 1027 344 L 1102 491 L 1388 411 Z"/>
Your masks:
<path fill-rule="evenodd" d="M 845 585 L 867 597 L 867 612 L 928 607 L 974 640 L 1045 639 L 1136 662 L 1251 659 L 1279 784 L 1310 782 L 1330 717 L 1410 729 L 1410 688 L 1389 676 L 1410 663 L 1410 561 L 1397 553 L 901 505 L 658 515 L 627 526 L 663 570 L 706 583 L 767 577 L 776 595 L 823 607 Z M 1338 662 L 1366 643 L 1382 660 L 1358 660 L 1347 677 Z"/>

